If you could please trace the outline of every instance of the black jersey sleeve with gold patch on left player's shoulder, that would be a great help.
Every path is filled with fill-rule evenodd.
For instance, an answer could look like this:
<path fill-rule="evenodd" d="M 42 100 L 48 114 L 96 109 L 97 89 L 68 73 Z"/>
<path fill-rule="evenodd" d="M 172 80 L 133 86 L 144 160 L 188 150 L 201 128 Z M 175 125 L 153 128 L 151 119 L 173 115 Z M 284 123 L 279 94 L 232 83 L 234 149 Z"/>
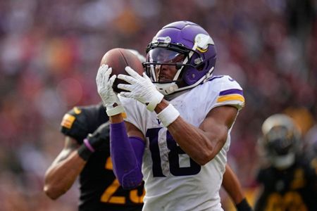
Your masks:
<path fill-rule="evenodd" d="M 88 135 L 87 117 L 84 110 L 74 107 L 63 116 L 61 121 L 61 133 L 76 139 L 78 143 Z"/>

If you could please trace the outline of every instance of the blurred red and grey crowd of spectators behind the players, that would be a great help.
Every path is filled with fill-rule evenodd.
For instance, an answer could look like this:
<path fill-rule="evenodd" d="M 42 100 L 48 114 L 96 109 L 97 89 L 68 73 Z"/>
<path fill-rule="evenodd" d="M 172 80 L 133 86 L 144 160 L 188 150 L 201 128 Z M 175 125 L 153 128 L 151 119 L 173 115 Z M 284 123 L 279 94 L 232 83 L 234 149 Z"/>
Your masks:
<path fill-rule="evenodd" d="M 214 75 L 244 89 L 228 157 L 252 201 L 266 117 L 287 113 L 310 134 L 304 143 L 317 139 L 316 11 L 316 0 L 0 0 L 0 210 L 77 209 L 77 186 L 56 201 L 42 191 L 63 148 L 63 114 L 99 103 L 95 77 L 106 51 L 144 54 L 176 20 L 211 34 Z"/>

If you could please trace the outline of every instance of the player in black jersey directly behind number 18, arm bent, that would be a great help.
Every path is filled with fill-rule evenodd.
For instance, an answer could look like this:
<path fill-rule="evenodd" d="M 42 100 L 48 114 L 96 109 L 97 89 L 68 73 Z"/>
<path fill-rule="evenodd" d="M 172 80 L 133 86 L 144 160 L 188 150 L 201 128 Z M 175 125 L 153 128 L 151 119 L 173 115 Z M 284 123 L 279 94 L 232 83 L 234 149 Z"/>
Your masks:
<path fill-rule="evenodd" d="M 79 176 L 79 210 L 142 210 L 143 186 L 123 190 L 113 174 L 108 116 L 101 103 L 68 111 L 61 132 L 66 136 L 65 146 L 46 171 L 47 196 L 63 195 Z"/>

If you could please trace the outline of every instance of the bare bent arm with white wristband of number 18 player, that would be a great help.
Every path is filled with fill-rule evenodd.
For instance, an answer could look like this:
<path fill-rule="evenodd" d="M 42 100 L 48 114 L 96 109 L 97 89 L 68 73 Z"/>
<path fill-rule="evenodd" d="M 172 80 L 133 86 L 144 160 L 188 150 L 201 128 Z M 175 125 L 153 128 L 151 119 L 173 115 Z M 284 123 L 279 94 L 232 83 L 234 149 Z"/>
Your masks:
<path fill-rule="evenodd" d="M 205 165 L 223 148 L 237 115 L 236 108 L 220 106 L 213 108 L 199 127 L 194 127 L 165 100 L 156 106 L 155 112 L 180 148 L 199 165 Z"/>

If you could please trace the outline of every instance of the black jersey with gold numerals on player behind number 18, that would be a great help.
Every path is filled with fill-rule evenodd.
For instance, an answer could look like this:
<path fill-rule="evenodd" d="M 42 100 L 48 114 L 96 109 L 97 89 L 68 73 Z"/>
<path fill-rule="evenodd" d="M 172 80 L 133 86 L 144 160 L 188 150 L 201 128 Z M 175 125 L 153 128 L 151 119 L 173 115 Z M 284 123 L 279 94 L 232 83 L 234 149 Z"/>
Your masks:
<path fill-rule="evenodd" d="M 79 144 L 108 121 L 103 106 L 75 107 L 63 117 L 61 132 Z M 91 155 L 80 173 L 80 211 L 142 210 L 144 188 L 123 190 L 112 171 L 110 143 Z"/>

